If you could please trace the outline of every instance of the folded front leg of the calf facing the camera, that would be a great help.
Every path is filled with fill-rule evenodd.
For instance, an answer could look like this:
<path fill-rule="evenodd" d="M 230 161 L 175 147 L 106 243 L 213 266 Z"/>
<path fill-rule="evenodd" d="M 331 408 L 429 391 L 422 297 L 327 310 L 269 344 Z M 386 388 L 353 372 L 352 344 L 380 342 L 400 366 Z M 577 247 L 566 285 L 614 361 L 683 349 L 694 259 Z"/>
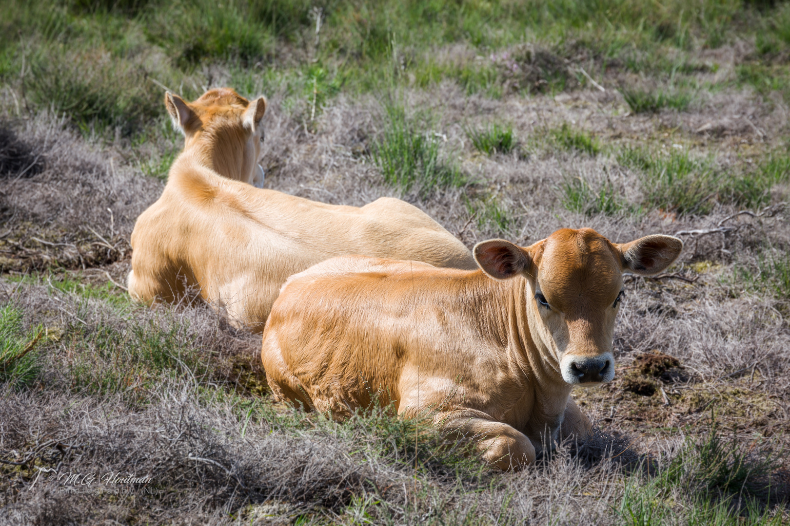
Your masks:
<path fill-rule="evenodd" d="M 439 413 L 434 425 L 444 431 L 468 438 L 483 453 L 483 460 L 497 468 L 523 468 L 535 461 L 535 446 L 527 435 L 510 425 L 493 420 L 484 412 L 460 409 Z"/>

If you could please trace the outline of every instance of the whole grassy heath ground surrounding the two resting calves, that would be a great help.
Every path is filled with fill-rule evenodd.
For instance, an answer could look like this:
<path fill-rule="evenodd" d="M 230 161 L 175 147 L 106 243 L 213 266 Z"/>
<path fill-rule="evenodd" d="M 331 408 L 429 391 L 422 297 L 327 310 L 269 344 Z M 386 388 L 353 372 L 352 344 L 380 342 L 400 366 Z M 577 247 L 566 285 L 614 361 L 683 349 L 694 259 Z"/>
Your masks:
<path fill-rule="evenodd" d="M 618 459 L 649 453 L 649 475 L 563 445 L 502 476 L 435 431 L 429 414 L 374 409 L 340 424 L 285 408 L 270 397 L 259 336 L 205 306 L 151 311 L 101 284 L 103 270 L 127 264 L 124 240 L 161 191 L 147 177 L 164 179 L 182 145 L 164 114 L 166 88 L 186 99 L 220 85 L 267 95 L 272 188 L 361 204 L 388 185 L 469 246 L 533 243 L 564 226 L 628 241 L 778 203 L 790 180 L 787 132 L 766 115 L 790 98 L 786 2 L 7 0 L 0 15 L 2 125 L 20 145 L 0 144 L 0 170 L 11 166 L 0 173 L 0 265 L 28 272 L 2 279 L 0 458 L 35 455 L 26 466 L 0 462 L 0 505 L 24 505 L 41 524 L 253 523 L 265 506 L 297 524 L 787 524 L 778 489 L 764 484 L 787 468 L 778 404 L 790 259 L 778 207 L 733 219 L 739 229 L 726 235 L 686 238 L 675 274 L 700 263 L 721 282 L 626 279 L 618 367 L 659 349 L 678 357 L 687 384 L 650 377 L 655 392 L 640 396 L 615 380 L 574 397 L 594 401 L 582 410 L 596 426 L 633 437 Z M 629 116 L 612 98 L 617 86 Z M 705 90 L 727 103 L 721 134 L 641 117 L 682 110 L 705 123 Z M 577 92 L 552 96 L 561 91 Z M 733 107 L 756 107 L 765 135 L 739 128 Z M 47 129 L 45 111 L 69 129 Z M 491 123 L 463 129 L 491 156 L 479 181 L 453 151 L 453 130 L 471 119 Z M 498 155 L 517 151 L 517 138 L 541 155 Z M 632 140 L 639 147 L 623 144 Z M 30 184 L 13 179 L 39 155 Z M 610 179 L 610 168 L 628 170 Z M 91 256 L 105 241 L 84 225 L 123 258 Z M 725 398 L 717 426 L 702 411 Z M 30 490 L 38 468 L 61 463 L 167 472 L 167 492 L 66 502 L 51 487 Z"/>

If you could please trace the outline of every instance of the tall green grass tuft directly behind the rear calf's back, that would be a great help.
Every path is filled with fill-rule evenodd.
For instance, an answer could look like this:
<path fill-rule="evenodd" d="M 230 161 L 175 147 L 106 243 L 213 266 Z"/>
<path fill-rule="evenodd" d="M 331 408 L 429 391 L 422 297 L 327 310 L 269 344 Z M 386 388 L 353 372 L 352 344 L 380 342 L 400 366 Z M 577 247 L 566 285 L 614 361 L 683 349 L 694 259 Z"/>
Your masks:
<path fill-rule="evenodd" d="M 384 181 L 408 192 L 416 188 L 423 196 L 448 187 L 460 187 L 467 178 L 457 166 L 442 158 L 441 137 L 429 122 L 406 114 L 403 106 L 386 107 L 385 129 L 371 147 L 373 162 Z"/>

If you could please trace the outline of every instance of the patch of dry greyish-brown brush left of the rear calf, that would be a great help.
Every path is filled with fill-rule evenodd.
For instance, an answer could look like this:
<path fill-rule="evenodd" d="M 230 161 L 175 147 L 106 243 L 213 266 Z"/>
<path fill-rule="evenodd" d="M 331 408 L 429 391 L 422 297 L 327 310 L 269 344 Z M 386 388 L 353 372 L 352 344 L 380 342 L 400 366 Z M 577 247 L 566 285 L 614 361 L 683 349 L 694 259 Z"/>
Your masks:
<path fill-rule="evenodd" d="M 123 152 L 85 143 L 66 121 L 40 114 L 0 121 L 15 140 L 0 151 L 0 267 L 100 267 L 130 253 L 137 215 L 162 185 Z"/>

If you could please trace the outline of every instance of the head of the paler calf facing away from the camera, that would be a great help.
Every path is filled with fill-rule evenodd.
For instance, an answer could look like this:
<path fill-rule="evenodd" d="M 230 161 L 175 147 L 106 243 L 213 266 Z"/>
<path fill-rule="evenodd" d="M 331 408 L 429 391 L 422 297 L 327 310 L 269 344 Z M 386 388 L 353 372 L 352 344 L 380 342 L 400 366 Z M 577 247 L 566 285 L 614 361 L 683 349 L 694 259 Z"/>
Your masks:
<path fill-rule="evenodd" d="M 184 134 L 185 151 L 194 151 L 224 177 L 263 186 L 258 163 L 263 155 L 265 98 L 250 102 L 231 88 L 220 88 L 206 91 L 193 103 L 166 93 L 164 105 Z"/>

